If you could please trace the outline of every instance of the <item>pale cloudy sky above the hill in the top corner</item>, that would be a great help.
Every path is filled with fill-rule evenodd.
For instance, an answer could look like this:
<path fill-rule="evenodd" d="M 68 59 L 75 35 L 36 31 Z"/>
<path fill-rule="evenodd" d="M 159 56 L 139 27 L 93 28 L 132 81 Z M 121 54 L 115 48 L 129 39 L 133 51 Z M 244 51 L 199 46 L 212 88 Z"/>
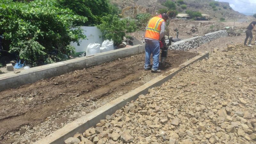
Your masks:
<path fill-rule="evenodd" d="M 256 13 L 256 0 L 215 0 L 215 1 L 228 2 L 229 5 L 233 8 L 233 10 L 238 11 L 240 13 L 242 12 L 252 13 L 252 10 L 253 10 L 253 13 Z"/>

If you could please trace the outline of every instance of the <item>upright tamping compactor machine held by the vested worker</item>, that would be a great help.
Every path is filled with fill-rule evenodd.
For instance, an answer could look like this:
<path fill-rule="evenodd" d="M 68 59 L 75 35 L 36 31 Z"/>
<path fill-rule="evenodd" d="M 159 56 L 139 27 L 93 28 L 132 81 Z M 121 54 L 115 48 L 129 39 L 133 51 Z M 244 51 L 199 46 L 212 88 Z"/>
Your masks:
<path fill-rule="evenodd" d="M 160 64 L 163 67 L 165 66 L 165 60 L 166 60 L 167 55 L 168 55 L 168 48 L 169 48 L 169 46 L 173 42 L 172 38 L 173 37 L 169 36 L 169 34 L 164 33 L 163 38 L 161 39 L 161 41 L 159 41 L 160 49 L 161 49 L 161 61 L 160 61 Z"/>

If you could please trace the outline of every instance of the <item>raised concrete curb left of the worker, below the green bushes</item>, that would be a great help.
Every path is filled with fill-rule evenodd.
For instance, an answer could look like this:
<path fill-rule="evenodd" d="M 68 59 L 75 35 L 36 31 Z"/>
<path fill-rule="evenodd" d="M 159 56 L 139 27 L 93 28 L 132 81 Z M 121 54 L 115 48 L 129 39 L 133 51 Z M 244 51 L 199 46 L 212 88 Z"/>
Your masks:
<path fill-rule="evenodd" d="M 34 83 L 38 80 L 60 76 L 77 69 L 88 68 L 104 62 L 137 55 L 145 51 L 145 45 L 135 45 L 109 52 L 97 53 L 89 57 L 66 60 L 44 66 L 24 69 L 18 74 L 6 73 L 0 75 L 0 91 L 8 88 L 17 88 L 23 84 Z"/>

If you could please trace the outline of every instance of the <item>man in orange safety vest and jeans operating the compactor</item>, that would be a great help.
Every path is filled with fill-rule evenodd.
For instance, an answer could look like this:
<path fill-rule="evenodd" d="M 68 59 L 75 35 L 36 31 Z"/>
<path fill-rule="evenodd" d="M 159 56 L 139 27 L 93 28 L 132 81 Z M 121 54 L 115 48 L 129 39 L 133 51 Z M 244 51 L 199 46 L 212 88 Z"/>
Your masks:
<path fill-rule="evenodd" d="M 144 70 L 150 70 L 150 55 L 152 53 L 153 66 L 151 72 L 160 73 L 158 69 L 160 45 L 159 41 L 164 36 L 165 21 L 168 19 L 166 13 L 159 14 L 149 20 L 145 34 L 145 65 Z"/>

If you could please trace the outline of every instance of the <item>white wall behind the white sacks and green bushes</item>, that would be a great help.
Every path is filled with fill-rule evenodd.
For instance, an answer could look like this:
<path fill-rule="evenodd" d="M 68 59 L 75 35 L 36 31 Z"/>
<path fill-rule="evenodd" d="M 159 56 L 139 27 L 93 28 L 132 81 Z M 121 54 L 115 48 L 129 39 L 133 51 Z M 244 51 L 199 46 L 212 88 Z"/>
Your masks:
<path fill-rule="evenodd" d="M 82 40 L 80 43 L 80 46 L 78 46 L 76 43 L 71 42 L 72 46 L 75 46 L 76 48 L 76 54 L 80 54 L 82 52 L 86 52 L 87 46 L 89 44 L 93 43 L 98 43 L 102 44 L 103 38 L 100 37 L 102 36 L 102 32 L 100 31 L 99 28 L 97 27 L 81 27 L 84 30 L 84 35 L 86 36 L 87 39 Z"/>

